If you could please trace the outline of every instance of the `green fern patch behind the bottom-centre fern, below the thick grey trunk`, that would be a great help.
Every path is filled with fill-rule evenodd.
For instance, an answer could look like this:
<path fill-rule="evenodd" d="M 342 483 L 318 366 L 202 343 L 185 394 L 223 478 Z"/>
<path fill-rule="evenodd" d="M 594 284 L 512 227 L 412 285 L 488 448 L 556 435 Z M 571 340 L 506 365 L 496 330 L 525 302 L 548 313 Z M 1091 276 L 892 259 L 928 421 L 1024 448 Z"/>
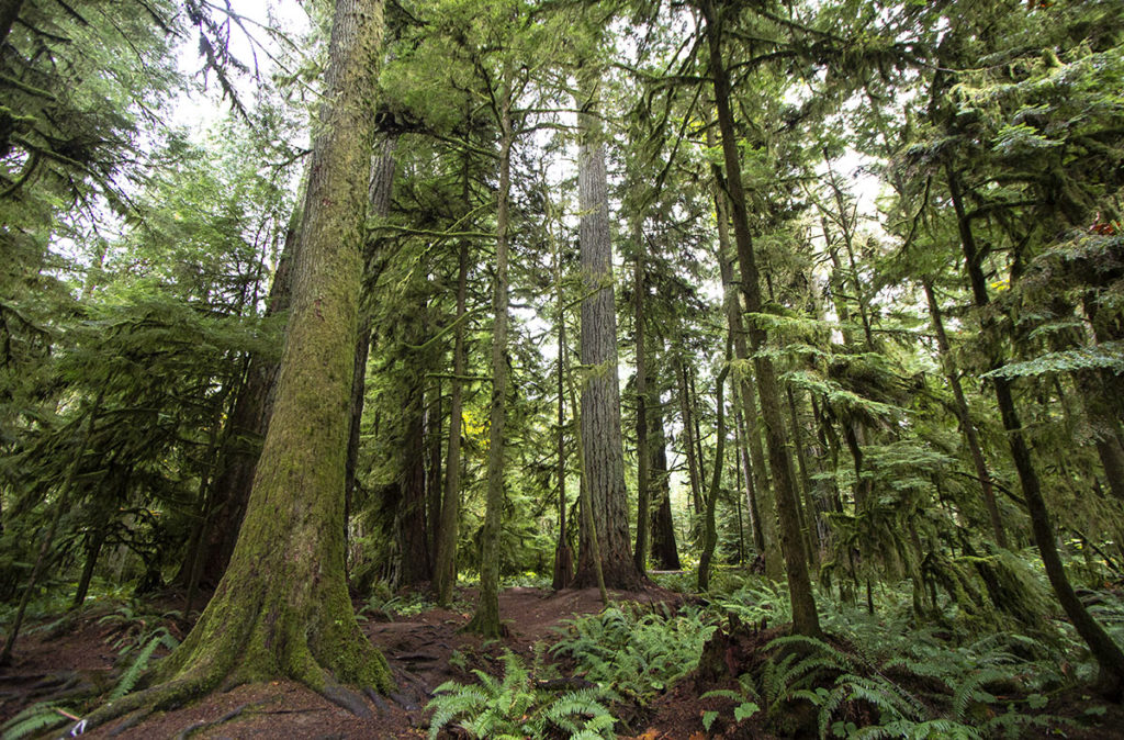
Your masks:
<path fill-rule="evenodd" d="M 695 669 L 715 625 L 696 608 L 644 613 L 622 605 L 569 620 L 563 629 L 553 655 L 571 656 L 588 680 L 646 704 Z"/>

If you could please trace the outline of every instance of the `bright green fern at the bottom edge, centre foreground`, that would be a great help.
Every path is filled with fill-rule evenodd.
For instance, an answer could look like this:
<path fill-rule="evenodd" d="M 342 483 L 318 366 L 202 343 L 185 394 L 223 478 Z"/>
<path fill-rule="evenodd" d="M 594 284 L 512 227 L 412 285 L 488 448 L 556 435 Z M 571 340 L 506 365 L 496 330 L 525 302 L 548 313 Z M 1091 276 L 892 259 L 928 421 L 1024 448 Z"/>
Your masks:
<path fill-rule="evenodd" d="M 479 683 L 446 682 L 427 705 L 433 710 L 429 740 L 456 724 L 474 738 L 613 738 L 616 720 L 598 688 L 555 694 L 538 688 L 533 673 L 515 653 L 504 653 L 504 678 L 475 669 Z"/>

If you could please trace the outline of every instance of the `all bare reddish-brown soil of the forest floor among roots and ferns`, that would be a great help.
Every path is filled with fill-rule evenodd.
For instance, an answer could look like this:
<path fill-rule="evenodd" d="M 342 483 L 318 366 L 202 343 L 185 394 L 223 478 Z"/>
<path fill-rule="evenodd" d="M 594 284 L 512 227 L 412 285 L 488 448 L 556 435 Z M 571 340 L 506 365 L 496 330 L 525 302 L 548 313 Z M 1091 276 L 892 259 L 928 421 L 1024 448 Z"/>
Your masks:
<path fill-rule="evenodd" d="M 653 587 L 646 592 L 613 594 L 614 601 L 632 601 L 643 607 L 660 604 L 676 607 L 683 596 Z M 423 602 L 396 610 L 362 610 L 361 622 L 371 642 L 390 662 L 398 691 L 372 704 L 373 716 L 360 719 L 318 694 L 287 680 L 238 686 L 215 693 L 184 709 L 149 715 L 134 724 L 129 719 L 91 730 L 84 737 L 149 738 L 424 738 L 427 736 L 426 703 L 433 689 L 447 680 L 474 683 L 472 669 L 500 673 L 506 650 L 519 655 L 526 665 L 535 660 L 536 643 L 555 642 L 565 620 L 596 614 L 602 608 L 597 589 L 550 592 L 540 588 L 508 588 L 500 594 L 500 615 L 508 635 L 483 641 L 461 632 L 471 616 L 475 594 L 462 590 L 450 610 L 432 608 Z M 399 599 L 395 599 L 396 602 Z M 174 610 L 174 599 L 160 604 Z M 401 604 L 399 604 L 401 607 Z M 129 630 L 151 630 L 152 624 L 118 620 L 112 612 L 89 610 L 66 630 L 31 631 L 21 641 L 13 666 L 0 669 L 0 722 L 45 698 L 67 693 L 107 692 L 120 673 L 115 668 L 121 638 Z M 107 619 L 108 615 L 108 619 Z M 172 622 L 164 622 L 176 633 Z M 769 633 L 777 632 L 769 630 Z M 776 635 L 771 635 L 776 637 Z M 762 632 L 763 643 L 770 635 Z M 540 649 L 540 657 L 542 650 Z M 157 652 L 158 655 L 158 652 Z M 565 666 L 562 666 L 563 671 Z M 701 716 L 708 710 L 729 710 L 729 702 L 699 698 L 706 687 L 687 678 L 672 686 L 643 711 L 620 710 L 616 730 L 620 738 L 635 740 L 703 740 L 707 737 L 772 738 L 761 724 L 742 722 L 722 736 L 719 727 L 703 731 Z M 1072 694 L 1052 702 L 1058 714 L 1079 716 L 1085 697 Z M 1041 734 L 1019 737 L 1069 737 L 1124 739 L 1124 710 L 1111 707 L 1096 728 L 1043 729 Z M 719 723 L 720 725 L 720 723 Z M 69 725 L 67 725 L 69 727 Z M 736 731 L 735 731 L 736 730 Z M 57 738 L 61 730 L 45 736 Z M 443 732 L 441 738 L 464 738 L 463 732 Z M 805 737 L 799 734 L 798 737 Z M 813 736 L 807 736 L 813 737 Z"/>

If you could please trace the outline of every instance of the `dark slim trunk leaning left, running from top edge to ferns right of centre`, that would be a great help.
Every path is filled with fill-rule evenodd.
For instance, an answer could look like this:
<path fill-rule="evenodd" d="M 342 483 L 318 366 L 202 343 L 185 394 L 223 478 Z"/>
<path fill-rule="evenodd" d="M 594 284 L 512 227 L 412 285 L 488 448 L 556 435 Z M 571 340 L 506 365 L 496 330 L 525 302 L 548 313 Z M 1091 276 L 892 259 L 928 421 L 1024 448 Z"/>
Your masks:
<path fill-rule="evenodd" d="M 742 272 L 742 292 L 745 299 L 745 309 L 751 314 L 759 314 L 762 308 L 761 285 L 756 258 L 753 252 L 753 241 L 750 235 L 745 191 L 742 187 L 741 157 L 729 106 L 729 76 L 723 64 L 723 29 L 720 26 L 723 19 L 718 16 L 713 0 L 704 0 L 701 10 L 710 52 L 710 76 L 714 81 L 715 108 L 718 115 L 718 129 L 722 134 L 722 150 L 726 164 L 726 191 L 729 195 L 729 207 L 733 211 L 734 242 L 737 245 L 737 261 Z M 772 470 L 776 487 L 780 547 L 785 558 L 785 570 L 788 575 L 789 601 L 792 605 L 792 630 L 797 634 L 818 635 L 821 634 L 819 616 L 816 614 L 816 602 L 812 593 L 812 579 L 808 575 L 808 561 L 800 533 L 799 502 L 796 497 L 796 486 L 788 458 L 785 418 L 780 409 L 780 383 L 777 380 L 772 360 L 759 352 L 765 345 L 765 333 L 755 323 L 750 325 L 750 344 L 755 355 L 753 367 L 761 400 L 761 415 L 765 425 L 769 467 Z"/>

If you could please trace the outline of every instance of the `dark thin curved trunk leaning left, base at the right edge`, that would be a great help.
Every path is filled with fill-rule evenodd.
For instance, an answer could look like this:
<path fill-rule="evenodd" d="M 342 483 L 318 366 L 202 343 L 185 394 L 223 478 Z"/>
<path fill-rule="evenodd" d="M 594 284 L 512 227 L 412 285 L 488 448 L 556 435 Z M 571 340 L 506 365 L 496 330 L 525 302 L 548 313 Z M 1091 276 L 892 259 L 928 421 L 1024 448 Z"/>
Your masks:
<path fill-rule="evenodd" d="M 971 224 L 964 210 L 963 198 L 960 192 L 960 180 L 951 165 L 945 165 L 945 174 L 949 182 L 949 192 L 952 197 L 952 206 L 957 215 L 957 225 L 960 232 L 960 245 L 964 252 L 964 262 L 968 270 L 968 278 L 972 289 L 972 298 L 976 306 L 981 309 L 981 321 L 986 335 L 994 335 L 995 322 L 987 313 L 990 298 L 987 292 L 987 279 L 984 276 L 982 259 L 979 247 L 976 245 L 976 237 L 972 234 Z M 988 342 L 991 352 L 992 368 L 1003 367 L 1003 358 L 995 337 Z M 1031 460 L 1031 450 L 1023 435 L 1023 425 L 1015 410 L 1015 401 L 1010 394 L 1010 382 L 1003 376 L 992 379 L 996 401 L 999 406 L 999 415 L 1003 417 L 1003 427 L 1007 431 L 1007 442 L 1010 445 L 1010 455 L 1015 462 L 1015 471 L 1022 485 L 1023 497 L 1026 500 L 1026 511 L 1031 516 L 1031 533 L 1034 536 L 1034 544 L 1039 548 L 1042 557 L 1042 565 L 1046 571 L 1046 578 L 1053 587 L 1062 610 L 1073 624 L 1073 629 L 1085 640 L 1089 652 L 1099 667 L 1098 683 L 1100 688 L 1109 696 L 1118 698 L 1124 688 L 1124 651 L 1121 650 L 1113 639 L 1105 632 L 1104 628 L 1093 619 L 1085 604 L 1078 598 L 1073 586 L 1069 583 L 1066 569 L 1062 566 L 1061 557 L 1058 553 L 1058 545 L 1054 541 L 1054 526 L 1050 520 L 1050 512 L 1046 509 L 1045 498 L 1042 496 L 1042 486 L 1039 481 L 1037 471 Z"/>

